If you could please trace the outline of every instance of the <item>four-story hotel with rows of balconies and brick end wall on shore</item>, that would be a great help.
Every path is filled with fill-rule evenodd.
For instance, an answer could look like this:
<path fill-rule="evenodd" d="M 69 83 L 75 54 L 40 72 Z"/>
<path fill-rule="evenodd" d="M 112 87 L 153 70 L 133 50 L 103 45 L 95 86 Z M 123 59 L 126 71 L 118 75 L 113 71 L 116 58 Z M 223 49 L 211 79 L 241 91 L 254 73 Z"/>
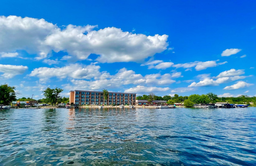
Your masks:
<path fill-rule="evenodd" d="M 79 105 L 135 105 L 136 94 L 108 92 L 104 101 L 103 92 L 75 90 L 69 92 L 69 103 Z"/>

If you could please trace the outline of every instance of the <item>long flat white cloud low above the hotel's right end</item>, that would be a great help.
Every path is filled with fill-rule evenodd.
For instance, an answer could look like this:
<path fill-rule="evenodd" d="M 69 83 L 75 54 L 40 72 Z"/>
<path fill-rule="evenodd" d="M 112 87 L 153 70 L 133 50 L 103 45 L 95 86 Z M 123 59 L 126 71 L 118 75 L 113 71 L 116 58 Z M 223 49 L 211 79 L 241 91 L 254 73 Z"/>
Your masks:
<path fill-rule="evenodd" d="M 169 90 L 169 87 L 144 87 L 138 85 L 137 87 L 132 87 L 129 89 L 126 89 L 124 93 L 140 93 L 140 94 L 148 94 L 150 92 L 164 92 Z"/>

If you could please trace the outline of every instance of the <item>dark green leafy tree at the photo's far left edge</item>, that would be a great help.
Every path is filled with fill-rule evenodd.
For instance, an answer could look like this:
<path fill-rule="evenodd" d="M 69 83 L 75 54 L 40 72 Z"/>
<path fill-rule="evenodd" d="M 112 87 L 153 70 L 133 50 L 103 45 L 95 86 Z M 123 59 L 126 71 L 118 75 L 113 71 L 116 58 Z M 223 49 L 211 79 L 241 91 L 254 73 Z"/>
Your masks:
<path fill-rule="evenodd" d="M 16 99 L 15 87 L 9 87 L 7 84 L 0 86 L 0 104 L 9 105 Z"/>

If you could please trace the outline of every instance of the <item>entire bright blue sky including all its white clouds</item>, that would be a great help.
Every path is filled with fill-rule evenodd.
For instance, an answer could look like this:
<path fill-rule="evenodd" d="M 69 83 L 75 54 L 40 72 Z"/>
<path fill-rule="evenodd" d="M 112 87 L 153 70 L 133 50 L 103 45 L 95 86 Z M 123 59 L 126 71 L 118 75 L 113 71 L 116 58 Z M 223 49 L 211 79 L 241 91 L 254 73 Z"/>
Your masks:
<path fill-rule="evenodd" d="M 11 1 L 0 84 L 158 96 L 256 96 L 255 1 Z"/>

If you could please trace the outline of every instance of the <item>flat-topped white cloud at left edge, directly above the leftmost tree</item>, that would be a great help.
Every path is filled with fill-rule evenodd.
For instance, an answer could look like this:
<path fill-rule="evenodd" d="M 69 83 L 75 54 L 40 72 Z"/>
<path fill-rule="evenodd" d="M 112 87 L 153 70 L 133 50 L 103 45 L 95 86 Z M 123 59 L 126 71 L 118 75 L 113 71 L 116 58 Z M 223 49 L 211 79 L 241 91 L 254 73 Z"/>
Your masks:
<path fill-rule="evenodd" d="M 3 72 L 1 76 L 5 79 L 10 79 L 16 75 L 23 74 L 28 69 L 28 66 L 16 66 L 9 64 L 0 64 L 0 72 Z"/>

